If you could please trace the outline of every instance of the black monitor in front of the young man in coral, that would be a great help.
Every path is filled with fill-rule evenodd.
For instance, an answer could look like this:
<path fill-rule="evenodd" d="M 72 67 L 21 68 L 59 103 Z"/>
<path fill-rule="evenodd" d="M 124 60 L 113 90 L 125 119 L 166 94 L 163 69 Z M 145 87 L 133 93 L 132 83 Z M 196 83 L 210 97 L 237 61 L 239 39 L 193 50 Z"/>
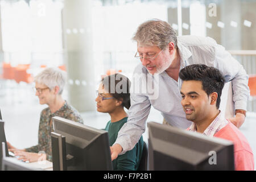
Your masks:
<path fill-rule="evenodd" d="M 150 170 L 234 170 L 234 146 L 229 140 L 155 122 L 147 126 Z"/>

